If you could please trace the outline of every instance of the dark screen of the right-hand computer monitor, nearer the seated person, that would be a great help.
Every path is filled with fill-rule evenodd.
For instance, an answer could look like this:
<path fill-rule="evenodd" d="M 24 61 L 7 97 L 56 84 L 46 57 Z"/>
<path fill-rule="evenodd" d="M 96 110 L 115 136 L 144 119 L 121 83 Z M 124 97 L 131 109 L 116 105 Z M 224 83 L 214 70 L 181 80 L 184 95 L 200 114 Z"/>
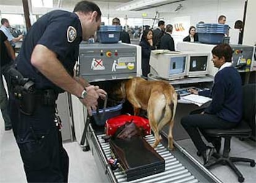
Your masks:
<path fill-rule="evenodd" d="M 207 70 L 208 56 L 190 56 L 189 72 Z"/>

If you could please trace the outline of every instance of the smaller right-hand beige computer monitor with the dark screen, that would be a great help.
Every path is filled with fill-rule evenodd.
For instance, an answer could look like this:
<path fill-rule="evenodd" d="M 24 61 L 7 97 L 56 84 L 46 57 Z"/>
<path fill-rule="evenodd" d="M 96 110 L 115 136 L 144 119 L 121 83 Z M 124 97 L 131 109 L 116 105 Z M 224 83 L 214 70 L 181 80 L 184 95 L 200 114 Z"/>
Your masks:
<path fill-rule="evenodd" d="M 204 77 L 208 74 L 210 53 L 187 54 L 187 77 Z"/>

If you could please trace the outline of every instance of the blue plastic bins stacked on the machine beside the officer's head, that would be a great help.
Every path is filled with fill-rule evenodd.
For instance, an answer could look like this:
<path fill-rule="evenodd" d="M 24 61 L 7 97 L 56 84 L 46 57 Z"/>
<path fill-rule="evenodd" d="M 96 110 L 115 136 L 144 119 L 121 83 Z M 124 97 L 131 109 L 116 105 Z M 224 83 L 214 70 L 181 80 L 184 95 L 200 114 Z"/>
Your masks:
<path fill-rule="evenodd" d="M 121 25 L 103 25 L 97 32 L 100 43 L 117 43 L 122 32 Z"/>

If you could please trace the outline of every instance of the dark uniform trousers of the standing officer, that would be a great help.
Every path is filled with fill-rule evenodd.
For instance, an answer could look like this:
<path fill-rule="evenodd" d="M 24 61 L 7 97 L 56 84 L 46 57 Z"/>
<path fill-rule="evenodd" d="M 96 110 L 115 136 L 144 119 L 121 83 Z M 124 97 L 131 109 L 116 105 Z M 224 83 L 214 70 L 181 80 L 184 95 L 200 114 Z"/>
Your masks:
<path fill-rule="evenodd" d="M 69 156 L 54 123 L 54 106 L 36 104 L 32 116 L 20 113 L 11 95 L 11 121 L 28 182 L 67 182 Z"/>

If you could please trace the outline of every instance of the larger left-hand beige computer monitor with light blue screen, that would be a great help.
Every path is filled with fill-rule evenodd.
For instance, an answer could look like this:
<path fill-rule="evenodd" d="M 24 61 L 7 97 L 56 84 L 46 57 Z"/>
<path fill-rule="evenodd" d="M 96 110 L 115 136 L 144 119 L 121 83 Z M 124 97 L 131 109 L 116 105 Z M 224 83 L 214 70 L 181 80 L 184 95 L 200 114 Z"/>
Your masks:
<path fill-rule="evenodd" d="M 150 73 L 165 80 L 182 79 L 186 75 L 187 54 L 174 51 L 151 51 Z"/>

